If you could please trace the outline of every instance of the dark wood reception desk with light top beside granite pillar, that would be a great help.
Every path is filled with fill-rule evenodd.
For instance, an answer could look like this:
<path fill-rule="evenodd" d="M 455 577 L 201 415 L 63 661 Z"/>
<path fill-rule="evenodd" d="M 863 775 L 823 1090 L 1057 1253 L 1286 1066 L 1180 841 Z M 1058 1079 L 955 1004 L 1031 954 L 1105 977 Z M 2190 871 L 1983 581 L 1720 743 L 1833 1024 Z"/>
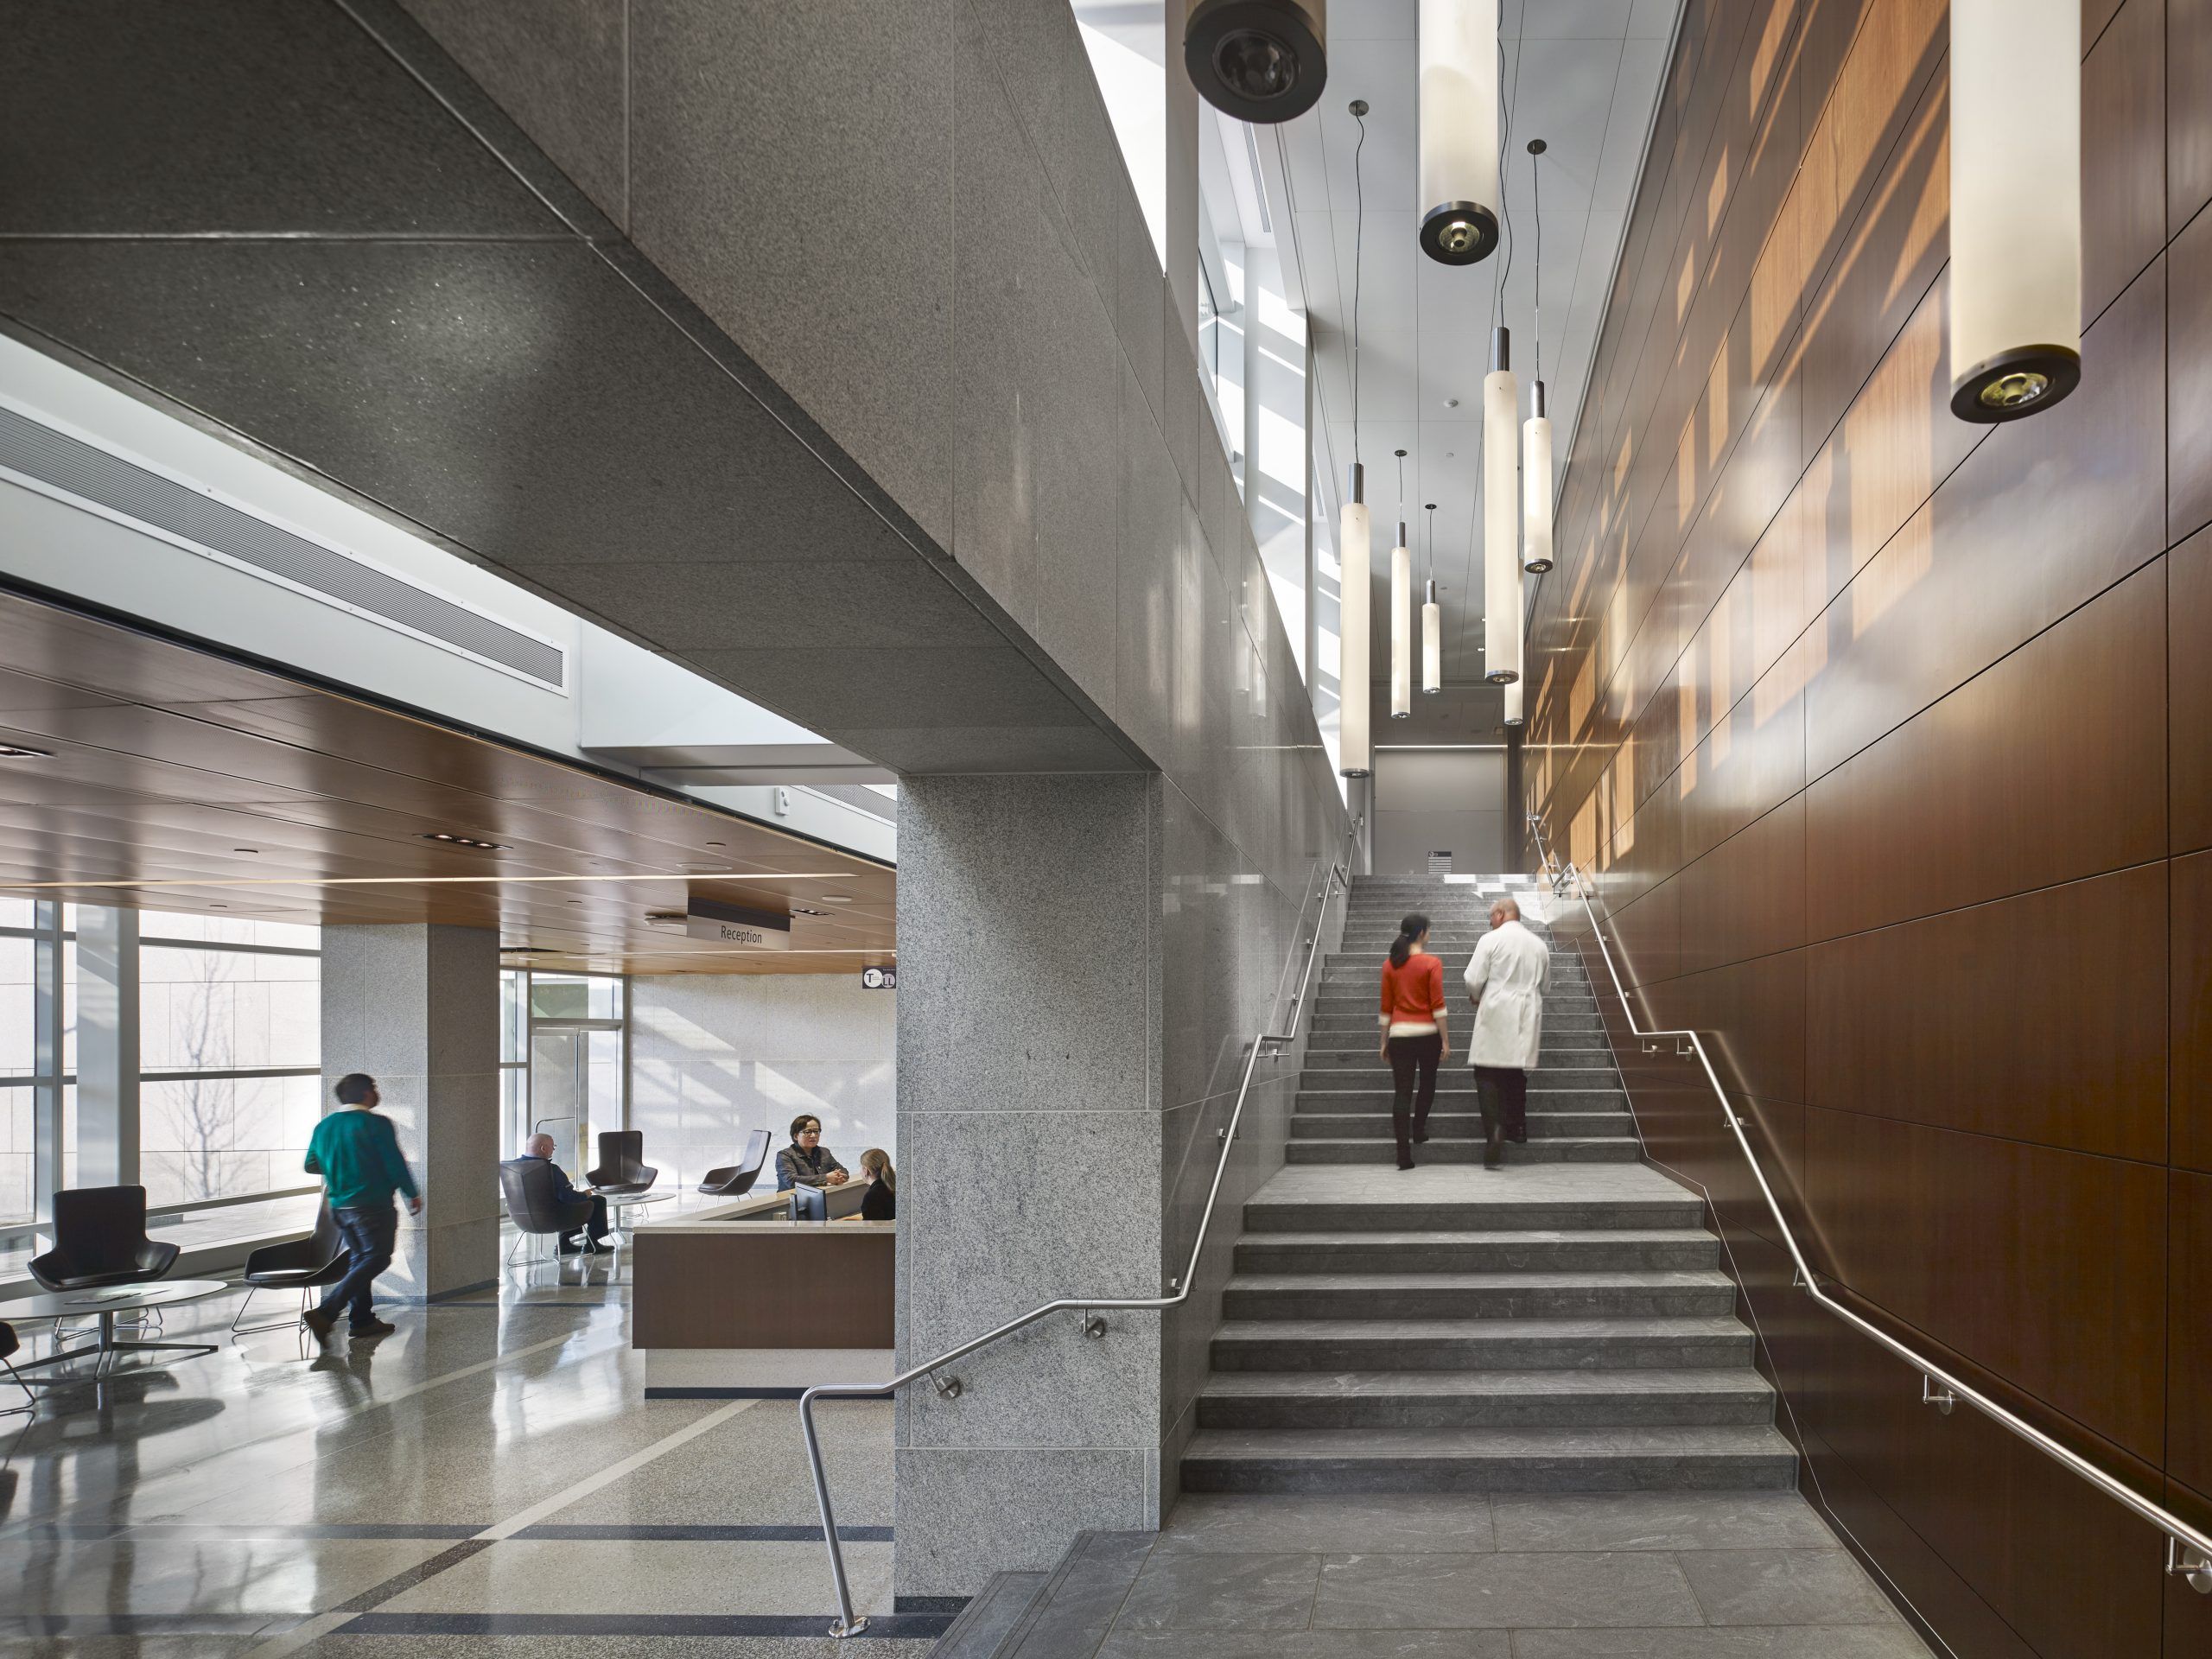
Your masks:
<path fill-rule="evenodd" d="M 787 1398 L 894 1374 L 898 1223 L 790 1221 L 787 1210 L 787 1194 L 770 1192 L 630 1234 L 630 1347 L 646 1356 L 646 1398 Z"/>

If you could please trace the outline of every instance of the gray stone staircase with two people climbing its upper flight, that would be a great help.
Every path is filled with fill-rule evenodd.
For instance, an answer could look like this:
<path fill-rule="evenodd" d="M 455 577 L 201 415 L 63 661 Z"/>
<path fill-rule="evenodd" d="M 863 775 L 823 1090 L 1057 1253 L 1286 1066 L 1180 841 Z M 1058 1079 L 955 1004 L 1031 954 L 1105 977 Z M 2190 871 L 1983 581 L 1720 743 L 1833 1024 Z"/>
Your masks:
<path fill-rule="evenodd" d="M 1480 1164 L 1460 973 L 1500 891 L 1354 883 L 1290 1166 L 1245 1203 L 1186 1491 L 1794 1486 L 1719 1241 L 1701 1201 L 1639 1161 L 1573 953 L 1553 958 L 1528 1141 L 1502 1170 Z M 1398 1170 L 1376 973 L 1413 909 L 1444 958 L 1455 1053 L 1422 1168 Z"/>

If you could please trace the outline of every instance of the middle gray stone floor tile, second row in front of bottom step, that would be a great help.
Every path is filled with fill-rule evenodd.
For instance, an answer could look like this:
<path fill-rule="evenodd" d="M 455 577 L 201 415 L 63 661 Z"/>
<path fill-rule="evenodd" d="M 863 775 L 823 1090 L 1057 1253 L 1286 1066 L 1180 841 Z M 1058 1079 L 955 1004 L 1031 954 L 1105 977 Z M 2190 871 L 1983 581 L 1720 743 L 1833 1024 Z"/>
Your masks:
<path fill-rule="evenodd" d="M 1314 1628 L 1703 1624 L 1668 1555 L 1327 1555 Z"/>

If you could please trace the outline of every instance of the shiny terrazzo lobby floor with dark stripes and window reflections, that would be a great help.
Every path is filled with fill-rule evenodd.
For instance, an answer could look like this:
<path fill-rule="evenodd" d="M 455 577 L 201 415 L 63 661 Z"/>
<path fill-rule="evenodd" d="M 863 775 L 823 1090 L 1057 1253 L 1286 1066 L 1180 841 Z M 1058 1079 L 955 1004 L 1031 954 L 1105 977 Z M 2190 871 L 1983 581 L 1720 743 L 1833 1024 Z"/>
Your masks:
<path fill-rule="evenodd" d="M 228 1338 L 237 1296 L 170 1310 L 221 1352 L 0 1420 L 0 1652 L 836 1650 L 796 1407 L 646 1400 L 626 1292 L 604 1256 L 518 1265 L 325 1354 Z M 891 1608 L 889 1407 L 823 1416 L 856 1601 L 925 1652 L 945 1615 Z"/>

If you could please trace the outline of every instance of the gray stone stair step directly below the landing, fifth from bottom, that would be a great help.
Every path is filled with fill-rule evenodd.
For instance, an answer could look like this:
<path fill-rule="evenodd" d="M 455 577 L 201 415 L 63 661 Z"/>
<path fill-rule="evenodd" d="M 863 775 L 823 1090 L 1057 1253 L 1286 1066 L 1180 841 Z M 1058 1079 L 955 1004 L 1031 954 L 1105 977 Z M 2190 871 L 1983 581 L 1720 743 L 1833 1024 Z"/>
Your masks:
<path fill-rule="evenodd" d="M 1239 1274 L 1697 1270 L 1721 1265 L 1721 1243 L 1701 1228 L 1248 1232 L 1234 1263 Z"/>

